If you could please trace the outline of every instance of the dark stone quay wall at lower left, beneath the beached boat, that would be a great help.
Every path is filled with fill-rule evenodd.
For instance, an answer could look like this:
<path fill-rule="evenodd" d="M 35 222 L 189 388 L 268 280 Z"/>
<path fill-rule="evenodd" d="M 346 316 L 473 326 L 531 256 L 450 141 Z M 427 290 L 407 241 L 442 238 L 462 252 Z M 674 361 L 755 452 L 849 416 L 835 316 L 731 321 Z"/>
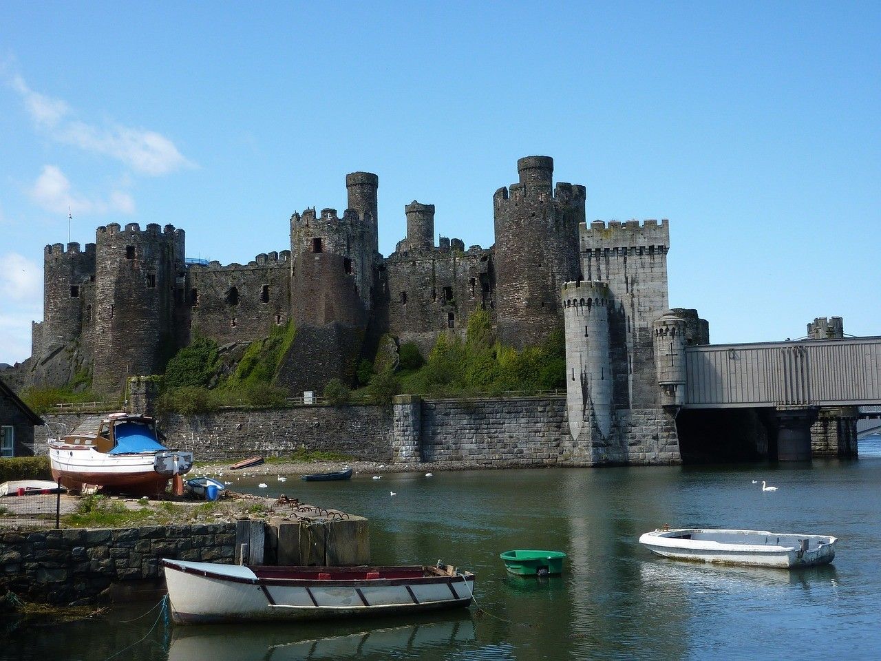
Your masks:
<path fill-rule="evenodd" d="M 159 578 L 159 559 L 232 563 L 235 524 L 0 532 L 0 590 L 93 603 L 111 583 Z"/>

